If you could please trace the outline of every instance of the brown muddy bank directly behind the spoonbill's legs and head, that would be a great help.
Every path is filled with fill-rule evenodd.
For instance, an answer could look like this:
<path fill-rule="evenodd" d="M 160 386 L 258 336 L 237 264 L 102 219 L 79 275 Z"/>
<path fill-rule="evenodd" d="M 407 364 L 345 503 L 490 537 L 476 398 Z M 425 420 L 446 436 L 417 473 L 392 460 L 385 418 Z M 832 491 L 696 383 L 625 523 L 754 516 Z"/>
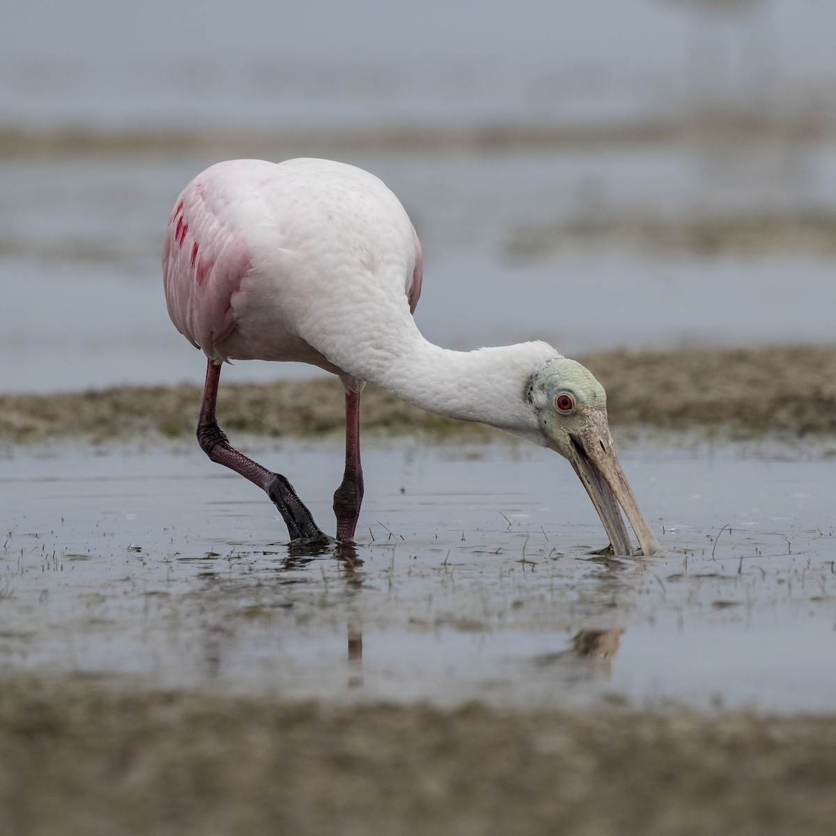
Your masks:
<path fill-rule="evenodd" d="M 836 345 L 610 351 L 578 359 L 604 384 L 616 431 L 696 430 L 735 439 L 836 432 Z M 502 435 L 431 415 L 372 386 L 363 399 L 364 433 L 370 436 L 479 441 Z M 200 401 L 195 384 L 0 395 L 0 441 L 186 439 Z M 218 416 L 228 432 L 274 438 L 339 436 L 344 427 L 341 390 L 329 378 L 227 383 Z"/>

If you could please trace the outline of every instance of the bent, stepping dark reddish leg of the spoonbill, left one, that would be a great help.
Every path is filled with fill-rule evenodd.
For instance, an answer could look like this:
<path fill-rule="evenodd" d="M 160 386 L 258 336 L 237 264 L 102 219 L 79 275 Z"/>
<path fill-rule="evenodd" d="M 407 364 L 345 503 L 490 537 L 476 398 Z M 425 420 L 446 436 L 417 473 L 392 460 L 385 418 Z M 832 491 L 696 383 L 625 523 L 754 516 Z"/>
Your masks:
<path fill-rule="evenodd" d="M 217 403 L 217 384 L 221 378 L 221 367 L 209 360 L 206 364 L 206 387 L 203 390 L 201 417 L 197 423 L 197 441 L 201 449 L 212 461 L 229 467 L 253 484 L 262 488 L 278 508 L 284 522 L 288 524 L 288 533 L 292 540 L 325 539 L 326 536 L 314 523 L 314 517 L 293 486 L 280 473 L 268 471 L 257 461 L 252 461 L 232 447 L 226 434 L 217 426 L 215 406 Z"/>

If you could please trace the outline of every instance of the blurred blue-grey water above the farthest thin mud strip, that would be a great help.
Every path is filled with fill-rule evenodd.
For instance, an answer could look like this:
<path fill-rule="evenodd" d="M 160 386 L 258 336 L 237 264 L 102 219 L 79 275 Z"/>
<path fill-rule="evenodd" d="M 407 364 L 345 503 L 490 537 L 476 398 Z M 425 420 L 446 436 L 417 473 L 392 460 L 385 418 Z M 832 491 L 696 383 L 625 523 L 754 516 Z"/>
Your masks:
<path fill-rule="evenodd" d="M 8 9 L 0 109 L 143 127 L 589 120 L 836 76 L 831 4 L 708 5 L 38 0 Z"/>

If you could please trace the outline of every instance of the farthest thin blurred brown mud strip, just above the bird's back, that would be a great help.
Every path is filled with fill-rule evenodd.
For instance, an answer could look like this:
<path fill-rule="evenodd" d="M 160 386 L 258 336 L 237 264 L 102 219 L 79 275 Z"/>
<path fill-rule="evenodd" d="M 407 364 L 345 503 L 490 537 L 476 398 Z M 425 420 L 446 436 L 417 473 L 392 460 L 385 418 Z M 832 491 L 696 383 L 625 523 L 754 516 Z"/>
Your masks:
<path fill-rule="evenodd" d="M 696 108 L 681 116 L 601 125 L 488 122 L 477 125 L 375 125 L 370 130 L 143 130 L 53 125 L 0 126 L 0 158 L 237 155 L 340 155 L 377 153 L 497 153 L 613 146 L 691 144 L 707 148 L 831 142 L 832 119 L 821 108 L 783 108 L 777 115 L 726 108 Z"/>

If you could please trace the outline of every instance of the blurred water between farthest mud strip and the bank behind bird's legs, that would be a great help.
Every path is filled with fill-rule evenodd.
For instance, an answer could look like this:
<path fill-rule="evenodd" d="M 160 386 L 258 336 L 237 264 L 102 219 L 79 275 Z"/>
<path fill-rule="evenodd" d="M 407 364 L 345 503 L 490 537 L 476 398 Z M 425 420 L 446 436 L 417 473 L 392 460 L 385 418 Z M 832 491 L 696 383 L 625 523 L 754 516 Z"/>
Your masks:
<path fill-rule="evenodd" d="M 428 339 L 456 349 L 546 339 L 572 355 L 619 346 L 831 341 L 831 257 L 696 258 L 584 247 L 520 260 L 508 250 L 516 232 L 584 217 L 595 206 L 616 217 L 714 217 L 762 206 L 833 211 L 836 151 L 813 146 L 793 156 L 797 164 L 771 166 L 751 152 L 713 167 L 699 150 L 659 149 L 349 161 L 395 189 L 421 234 L 425 282 L 415 316 Z M 0 161 L 8 197 L 0 206 L 0 390 L 202 380 L 201 355 L 166 313 L 160 252 L 177 191 L 210 162 Z M 812 307 L 811 298 L 818 300 Z M 227 378 L 311 373 L 252 362 Z"/>

